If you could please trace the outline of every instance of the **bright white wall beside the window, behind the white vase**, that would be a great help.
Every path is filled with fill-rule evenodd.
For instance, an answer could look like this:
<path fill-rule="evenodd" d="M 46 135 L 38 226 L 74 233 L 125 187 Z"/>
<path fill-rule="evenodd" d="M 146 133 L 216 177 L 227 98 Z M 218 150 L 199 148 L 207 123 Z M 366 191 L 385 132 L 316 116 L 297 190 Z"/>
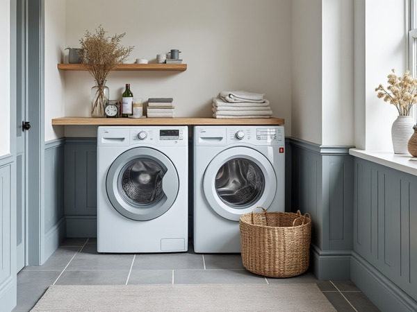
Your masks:
<path fill-rule="evenodd" d="M 365 39 L 361 55 L 361 64 L 365 67 L 364 89 L 361 98 L 355 103 L 355 121 L 361 131 L 356 136 L 365 136 L 365 139 L 357 140 L 358 148 L 393 149 L 391 124 L 398 112 L 393 105 L 377 98 L 375 87 L 380 83 L 387 86 L 386 76 L 391 73 L 391 69 L 394 68 L 396 73 L 402 75 L 407 68 L 404 2 L 367 0 L 365 3 L 365 28 L 361 30 Z M 359 121 L 362 121 L 362 124 Z"/>

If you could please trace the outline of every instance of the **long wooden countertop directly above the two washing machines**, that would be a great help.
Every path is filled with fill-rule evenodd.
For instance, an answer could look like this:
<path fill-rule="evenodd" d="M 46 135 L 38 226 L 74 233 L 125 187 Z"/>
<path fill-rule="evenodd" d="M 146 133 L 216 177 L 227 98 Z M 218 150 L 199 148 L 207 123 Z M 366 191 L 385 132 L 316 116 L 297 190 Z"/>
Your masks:
<path fill-rule="evenodd" d="M 284 125 L 281 118 L 215 119 L 199 117 L 175 118 L 92 118 L 61 117 L 52 119 L 52 125 Z"/>

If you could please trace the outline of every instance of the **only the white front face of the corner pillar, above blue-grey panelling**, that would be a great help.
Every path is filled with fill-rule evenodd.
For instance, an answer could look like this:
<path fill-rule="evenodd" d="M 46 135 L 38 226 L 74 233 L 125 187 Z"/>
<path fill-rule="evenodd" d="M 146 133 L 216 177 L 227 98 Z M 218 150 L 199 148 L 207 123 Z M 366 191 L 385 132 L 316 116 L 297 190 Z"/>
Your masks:
<path fill-rule="evenodd" d="M 322 0 L 322 145 L 354 144 L 353 0 Z"/>

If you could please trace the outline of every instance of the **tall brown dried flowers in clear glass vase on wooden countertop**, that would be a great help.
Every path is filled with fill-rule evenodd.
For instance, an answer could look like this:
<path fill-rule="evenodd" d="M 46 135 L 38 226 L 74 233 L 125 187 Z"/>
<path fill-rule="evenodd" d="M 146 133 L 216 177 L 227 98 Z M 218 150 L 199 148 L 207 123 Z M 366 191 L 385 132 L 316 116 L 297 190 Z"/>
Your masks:
<path fill-rule="evenodd" d="M 108 100 L 104 94 L 104 85 L 108 73 L 123 64 L 133 51 L 133 46 L 125 48 L 120 44 L 124 35 L 126 33 L 106 37 L 106 31 L 100 25 L 95 34 L 86 31 L 85 37 L 80 40 L 83 49 L 83 53 L 80 53 L 81 63 L 85 64 L 85 68 L 95 78 L 98 87 L 92 100 L 92 116 L 104 116 L 104 105 Z"/>

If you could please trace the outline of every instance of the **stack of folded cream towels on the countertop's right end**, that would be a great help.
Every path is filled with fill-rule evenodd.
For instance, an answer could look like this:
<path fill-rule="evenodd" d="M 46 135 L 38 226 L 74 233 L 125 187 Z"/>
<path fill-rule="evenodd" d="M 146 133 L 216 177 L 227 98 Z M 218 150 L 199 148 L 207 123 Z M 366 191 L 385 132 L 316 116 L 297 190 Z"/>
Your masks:
<path fill-rule="evenodd" d="M 213 98 L 214 118 L 270 118 L 272 110 L 264 94 L 224 91 Z"/>

